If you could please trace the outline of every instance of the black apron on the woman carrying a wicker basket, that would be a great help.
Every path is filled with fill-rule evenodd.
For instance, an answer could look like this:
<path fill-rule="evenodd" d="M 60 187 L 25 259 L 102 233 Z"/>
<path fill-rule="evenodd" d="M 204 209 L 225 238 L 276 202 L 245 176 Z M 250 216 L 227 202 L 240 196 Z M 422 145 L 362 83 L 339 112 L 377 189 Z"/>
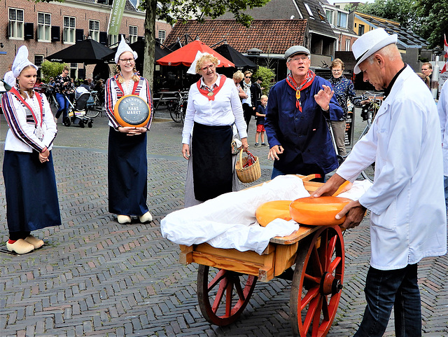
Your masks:
<path fill-rule="evenodd" d="M 205 201 L 232 192 L 232 136 L 230 125 L 209 126 L 195 123 L 192 151 L 197 200 Z"/>

